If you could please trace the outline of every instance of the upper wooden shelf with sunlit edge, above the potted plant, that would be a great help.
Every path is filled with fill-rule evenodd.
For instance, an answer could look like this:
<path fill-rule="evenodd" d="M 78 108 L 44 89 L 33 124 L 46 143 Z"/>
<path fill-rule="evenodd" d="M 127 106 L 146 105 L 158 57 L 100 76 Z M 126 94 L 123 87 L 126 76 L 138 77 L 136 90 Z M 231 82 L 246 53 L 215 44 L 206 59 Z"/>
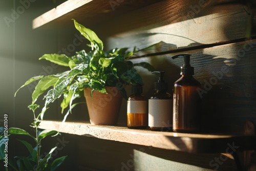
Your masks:
<path fill-rule="evenodd" d="M 130 0 L 120 3 L 105 0 L 69 0 L 33 20 L 33 29 L 68 27 L 72 18 L 83 24 L 95 25 L 114 16 L 145 7 L 160 0 Z M 110 23 L 111 24 L 111 23 Z"/>

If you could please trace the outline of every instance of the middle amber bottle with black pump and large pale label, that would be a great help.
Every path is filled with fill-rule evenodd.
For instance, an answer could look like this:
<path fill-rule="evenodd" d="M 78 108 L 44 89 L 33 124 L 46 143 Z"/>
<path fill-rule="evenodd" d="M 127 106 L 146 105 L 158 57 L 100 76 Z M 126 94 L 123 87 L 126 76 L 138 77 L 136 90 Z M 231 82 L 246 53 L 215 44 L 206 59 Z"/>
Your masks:
<path fill-rule="evenodd" d="M 148 100 L 148 126 L 152 131 L 173 131 L 173 97 L 167 93 L 167 82 L 163 80 L 164 71 L 155 82 L 155 93 Z"/>

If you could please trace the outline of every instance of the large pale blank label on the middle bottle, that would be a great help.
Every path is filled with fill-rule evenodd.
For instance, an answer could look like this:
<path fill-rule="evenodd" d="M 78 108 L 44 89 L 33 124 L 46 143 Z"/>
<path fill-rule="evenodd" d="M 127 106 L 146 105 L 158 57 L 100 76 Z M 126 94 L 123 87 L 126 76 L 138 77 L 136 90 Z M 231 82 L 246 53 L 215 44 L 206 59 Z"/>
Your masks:
<path fill-rule="evenodd" d="M 148 100 L 148 126 L 172 127 L 173 126 L 173 100 L 149 99 Z"/>

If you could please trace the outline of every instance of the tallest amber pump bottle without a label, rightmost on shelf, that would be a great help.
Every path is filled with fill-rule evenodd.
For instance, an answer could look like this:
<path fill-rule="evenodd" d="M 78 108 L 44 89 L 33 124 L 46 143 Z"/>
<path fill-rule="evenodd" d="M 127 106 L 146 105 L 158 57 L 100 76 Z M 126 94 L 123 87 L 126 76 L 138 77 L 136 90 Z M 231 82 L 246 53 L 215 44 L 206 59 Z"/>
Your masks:
<path fill-rule="evenodd" d="M 173 131 L 181 133 L 199 132 L 201 98 L 197 89 L 201 84 L 194 75 L 194 67 L 190 66 L 189 54 L 180 54 L 172 58 L 184 57 L 181 67 L 181 78 L 174 83 L 173 96 Z"/>

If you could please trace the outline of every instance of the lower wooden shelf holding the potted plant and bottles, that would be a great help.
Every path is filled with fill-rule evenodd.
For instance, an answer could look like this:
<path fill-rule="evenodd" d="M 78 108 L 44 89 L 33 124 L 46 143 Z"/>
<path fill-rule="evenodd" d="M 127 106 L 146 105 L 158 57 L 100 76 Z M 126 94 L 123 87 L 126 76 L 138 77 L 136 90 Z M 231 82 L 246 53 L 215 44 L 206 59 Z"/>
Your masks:
<path fill-rule="evenodd" d="M 133 130 L 122 126 L 91 125 L 89 123 L 41 121 L 40 129 L 56 130 L 62 133 L 95 137 L 162 149 L 188 153 L 226 153 L 227 148 L 235 150 L 255 149 L 256 136 L 207 135 L 172 132 Z"/>

